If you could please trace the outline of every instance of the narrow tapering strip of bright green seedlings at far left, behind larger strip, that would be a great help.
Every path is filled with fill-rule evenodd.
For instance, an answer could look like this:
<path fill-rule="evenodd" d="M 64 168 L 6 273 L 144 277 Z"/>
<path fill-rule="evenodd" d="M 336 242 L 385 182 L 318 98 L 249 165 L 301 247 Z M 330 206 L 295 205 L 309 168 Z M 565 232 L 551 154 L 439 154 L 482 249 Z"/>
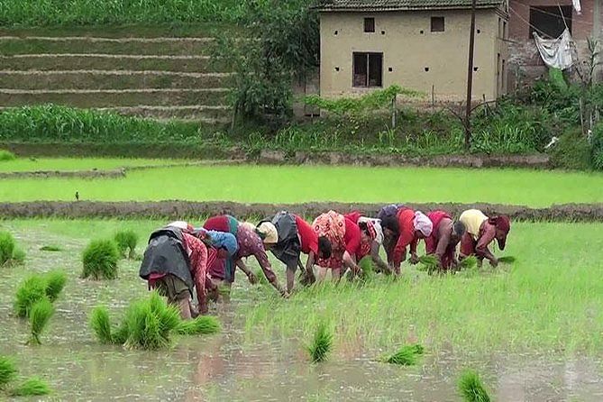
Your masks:
<path fill-rule="evenodd" d="M 21 158 L 0 163 L 0 172 L 37 170 L 111 170 L 136 166 L 180 163 L 184 160 L 121 159 L 121 158 Z"/>

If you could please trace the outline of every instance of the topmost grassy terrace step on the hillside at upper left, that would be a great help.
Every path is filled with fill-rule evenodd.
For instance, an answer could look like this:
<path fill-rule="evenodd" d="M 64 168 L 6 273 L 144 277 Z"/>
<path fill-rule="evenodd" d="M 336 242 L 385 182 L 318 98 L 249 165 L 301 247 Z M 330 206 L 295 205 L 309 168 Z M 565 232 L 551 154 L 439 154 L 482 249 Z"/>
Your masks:
<path fill-rule="evenodd" d="M 213 38 L 0 36 L 0 54 L 209 55 Z"/>

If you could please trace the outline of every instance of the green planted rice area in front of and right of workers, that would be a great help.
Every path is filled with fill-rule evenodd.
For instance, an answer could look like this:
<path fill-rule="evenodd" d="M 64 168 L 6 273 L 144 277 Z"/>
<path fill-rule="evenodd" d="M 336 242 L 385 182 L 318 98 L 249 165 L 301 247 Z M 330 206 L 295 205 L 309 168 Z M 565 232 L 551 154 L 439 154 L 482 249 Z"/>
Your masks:
<path fill-rule="evenodd" d="M 430 350 L 598 353 L 603 339 L 601 224 L 516 224 L 504 253 L 513 265 L 427 276 L 405 263 L 401 279 L 378 276 L 363 287 L 327 283 L 288 300 L 262 294 L 245 309 L 251 340 L 267 334 L 309 337 L 321 319 L 337 338 L 389 349 L 408 339 Z M 562 247 L 560 247 L 562 244 Z M 571 252 L 568 252 L 571 251 Z M 317 307 L 319 306 L 319 307 Z"/>

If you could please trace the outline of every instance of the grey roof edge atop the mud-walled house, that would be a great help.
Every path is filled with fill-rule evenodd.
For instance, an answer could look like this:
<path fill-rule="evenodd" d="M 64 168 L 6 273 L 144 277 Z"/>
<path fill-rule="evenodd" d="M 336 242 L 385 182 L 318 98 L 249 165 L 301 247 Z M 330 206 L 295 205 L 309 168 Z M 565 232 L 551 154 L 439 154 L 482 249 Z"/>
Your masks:
<path fill-rule="evenodd" d="M 477 0 L 479 8 L 494 8 L 504 0 Z M 471 0 L 322 0 L 321 11 L 402 11 L 470 8 Z"/>

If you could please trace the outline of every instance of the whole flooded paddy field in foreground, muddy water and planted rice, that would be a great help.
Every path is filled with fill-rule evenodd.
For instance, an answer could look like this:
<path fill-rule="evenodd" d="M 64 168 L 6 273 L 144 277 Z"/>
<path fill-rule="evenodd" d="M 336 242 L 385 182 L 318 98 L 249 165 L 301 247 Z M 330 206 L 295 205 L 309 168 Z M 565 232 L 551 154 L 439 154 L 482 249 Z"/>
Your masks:
<path fill-rule="evenodd" d="M 210 307 L 221 333 L 182 337 L 161 352 L 97 343 L 92 308 L 109 306 L 117 320 L 147 288 L 136 260 L 122 260 L 115 281 L 78 279 L 81 252 L 92 239 L 133 229 L 141 253 L 161 224 L 0 222 L 27 254 L 24 267 L 0 270 L 0 354 L 13 356 L 23 375 L 48 380 L 53 393 L 41 400 L 458 401 L 467 367 L 498 401 L 603 399 L 600 224 L 515 224 L 506 253 L 516 262 L 497 270 L 428 277 L 405 264 L 397 281 L 299 288 L 288 300 L 239 274 L 230 303 Z M 41 251 L 46 245 L 62 251 Z M 283 280 L 284 267 L 272 262 Z M 42 345 L 26 346 L 15 289 L 30 273 L 53 269 L 68 272 L 68 285 Z M 329 361 L 312 364 L 306 344 L 320 320 L 333 324 L 334 349 Z M 404 343 L 425 346 L 416 366 L 379 362 Z"/>

